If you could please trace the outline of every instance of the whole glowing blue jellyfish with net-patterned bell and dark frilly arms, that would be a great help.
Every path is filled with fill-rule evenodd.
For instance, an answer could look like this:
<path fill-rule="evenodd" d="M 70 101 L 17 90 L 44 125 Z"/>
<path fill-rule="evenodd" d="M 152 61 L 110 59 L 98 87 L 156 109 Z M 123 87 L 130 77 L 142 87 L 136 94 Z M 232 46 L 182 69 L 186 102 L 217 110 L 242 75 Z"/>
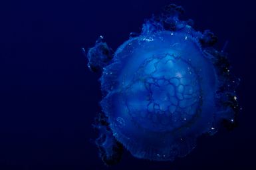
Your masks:
<path fill-rule="evenodd" d="M 199 135 L 236 125 L 239 79 L 225 52 L 213 48 L 217 37 L 181 21 L 183 11 L 169 5 L 115 52 L 102 37 L 88 50 L 88 67 L 102 71 L 96 144 L 108 165 L 120 160 L 122 147 L 134 157 L 173 161 Z"/>

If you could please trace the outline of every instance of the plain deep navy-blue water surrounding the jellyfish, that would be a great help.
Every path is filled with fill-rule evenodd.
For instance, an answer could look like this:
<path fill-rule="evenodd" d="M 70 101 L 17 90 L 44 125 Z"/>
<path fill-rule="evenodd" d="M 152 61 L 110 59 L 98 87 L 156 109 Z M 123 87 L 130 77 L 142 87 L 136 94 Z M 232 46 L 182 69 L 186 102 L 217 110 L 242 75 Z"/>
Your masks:
<path fill-rule="evenodd" d="M 1 1 L 3 3 L 3 1 Z M 99 74 L 81 48 L 104 35 L 112 48 L 144 19 L 176 3 L 195 29 L 211 29 L 241 78 L 239 127 L 201 137 L 174 163 L 128 152 L 107 168 L 91 124 L 100 111 Z M 256 169 L 256 10 L 251 0 L 7 1 L 0 5 L 0 169 Z"/>

